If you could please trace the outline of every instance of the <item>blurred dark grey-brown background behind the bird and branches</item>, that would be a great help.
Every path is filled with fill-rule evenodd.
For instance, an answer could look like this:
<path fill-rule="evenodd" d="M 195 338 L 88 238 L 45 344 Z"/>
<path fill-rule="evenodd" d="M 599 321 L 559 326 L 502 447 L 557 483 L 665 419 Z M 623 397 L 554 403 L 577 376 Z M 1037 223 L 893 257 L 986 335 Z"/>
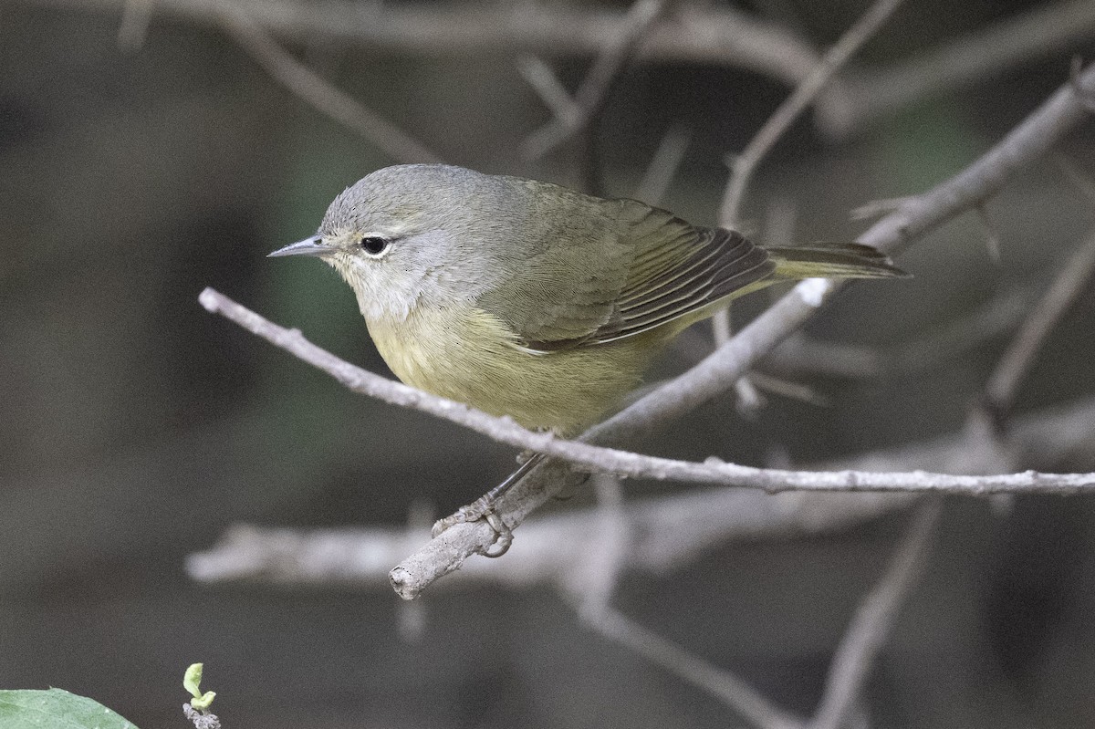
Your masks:
<path fill-rule="evenodd" d="M 682 4 L 780 28 L 806 57 L 867 7 Z M 871 81 L 934 48 L 1007 43 L 984 34 L 1038 13 L 1038 27 L 1063 15 L 1073 31 L 848 134 L 807 115 L 762 164 L 744 227 L 764 240 L 773 220 L 793 218 L 794 240 L 851 240 L 868 224 L 850 218 L 853 208 L 959 172 L 1067 82 L 1073 55 L 1091 58 L 1092 4 L 904 3 L 841 76 L 846 90 L 892 91 Z M 539 54 L 573 90 L 589 48 L 459 46 L 431 39 L 425 25 L 384 34 L 385 13 L 510 18 L 507 3 L 245 7 L 296 58 L 446 161 L 580 183 L 575 144 L 522 155 L 550 112 L 515 59 Z M 626 11 L 546 7 L 579 20 Z M 264 256 L 311 234 L 337 193 L 393 160 L 273 80 L 212 8 L 0 0 L 0 686 L 59 686 L 139 727 L 185 726 L 182 673 L 203 660 L 204 687 L 218 692 L 214 708 L 233 729 L 744 724 L 584 627 L 550 585 L 506 590 L 456 575 L 422 599 L 425 626 L 410 639 L 383 580 L 301 589 L 187 578 L 186 555 L 233 523 L 404 524 L 420 502 L 441 516 L 503 477 L 514 455 L 350 395 L 198 305 L 203 288 L 215 287 L 388 373 L 333 270 Z M 345 24 L 322 22 L 339 13 Z M 634 195 L 659 142 L 680 129 L 688 147 L 661 205 L 713 224 L 724 158 L 745 147 L 789 81 L 741 63 L 639 57 L 597 127 L 606 194 Z M 967 213 L 932 231 L 898 261 L 913 279 L 852 287 L 808 336 L 895 351 L 991 310 L 1002 294 L 1037 297 L 1091 234 L 1092 197 L 1062 164 L 1095 178 L 1092 130 L 1085 124 L 990 200 L 990 227 Z M 736 324 L 765 302 L 736 306 Z M 807 465 L 946 438 L 964 427 L 1023 311 L 930 367 L 834 377 L 773 364 L 827 404 L 768 395 L 744 417 L 728 394 L 636 447 Z M 1017 417 L 1092 397 L 1093 314 L 1087 287 L 1023 382 Z M 650 379 L 681 371 L 708 343 L 710 327 L 698 327 Z M 1095 435 L 1085 442 L 1039 467 L 1095 470 Z M 625 484 L 629 498 L 673 488 L 683 487 Z M 591 501 L 583 493 L 552 509 Z M 727 544 L 662 576 L 625 574 L 613 604 L 808 715 L 907 519 L 899 510 L 814 537 Z M 924 578 L 869 682 L 869 724 L 1092 726 L 1093 528 L 1088 497 L 949 499 Z"/>

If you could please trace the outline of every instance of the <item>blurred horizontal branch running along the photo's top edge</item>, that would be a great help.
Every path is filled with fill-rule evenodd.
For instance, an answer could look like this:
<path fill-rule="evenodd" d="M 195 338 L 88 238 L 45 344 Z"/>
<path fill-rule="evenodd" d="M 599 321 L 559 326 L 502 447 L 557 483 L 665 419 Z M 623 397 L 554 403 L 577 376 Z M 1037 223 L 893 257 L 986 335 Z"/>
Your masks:
<path fill-rule="evenodd" d="M 128 0 L 21 0 L 49 8 L 120 13 Z M 327 40 L 369 53 L 427 57 L 484 54 L 584 56 L 624 24 L 623 11 L 553 3 L 360 3 L 353 0 L 234 0 L 267 32 L 295 42 Z M 157 0 L 155 10 L 219 25 L 216 0 Z M 745 68 L 788 84 L 817 63 L 793 33 L 727 7 L 683 7 L 656 23 L 638 58 Z"/>

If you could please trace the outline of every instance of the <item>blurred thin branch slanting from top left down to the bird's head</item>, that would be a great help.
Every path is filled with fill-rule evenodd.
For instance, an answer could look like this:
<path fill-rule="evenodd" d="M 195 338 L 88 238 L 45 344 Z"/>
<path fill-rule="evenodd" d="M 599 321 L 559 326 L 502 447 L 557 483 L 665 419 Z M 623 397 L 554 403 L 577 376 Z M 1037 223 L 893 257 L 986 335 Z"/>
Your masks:
<path fill-rule="evenodd" d="M 221 26 L 276 81 L 397 162 L 440 162 L 422 142 L 293 58 L 234 2 L 217 5 Z"/>

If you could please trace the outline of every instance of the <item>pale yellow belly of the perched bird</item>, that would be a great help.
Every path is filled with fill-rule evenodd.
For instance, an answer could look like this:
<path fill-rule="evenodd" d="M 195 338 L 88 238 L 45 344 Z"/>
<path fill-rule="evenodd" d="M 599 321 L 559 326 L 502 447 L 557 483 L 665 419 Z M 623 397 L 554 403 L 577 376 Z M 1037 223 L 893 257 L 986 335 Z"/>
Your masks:
<path fill-rule="evenodd" d="M 471 306 L 418 308 L 405 321 L 368 325 L 403 382 L 563 435 L 576 435 L 610 413 L 638 384 L 659 348 L 652 337 L 631 337 L 533 355 L 512 346 L 500 321 Z"/>

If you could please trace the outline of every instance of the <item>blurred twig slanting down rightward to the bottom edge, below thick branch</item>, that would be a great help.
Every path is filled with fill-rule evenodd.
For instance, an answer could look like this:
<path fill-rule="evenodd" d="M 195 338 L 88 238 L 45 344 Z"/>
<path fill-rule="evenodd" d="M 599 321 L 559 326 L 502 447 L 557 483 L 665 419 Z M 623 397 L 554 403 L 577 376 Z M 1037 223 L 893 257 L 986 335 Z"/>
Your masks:
<path fill-rule="evenodd" d="M 643 656 L 673 675 L 715 696 L 750 724 L 763 729 L 794 729 L 802 721 L 770 703 L 756 688 L 725 669 L 713 666 L 671 640 L 645 628 L 612 608 L 586 624 L 606 638 Z"/>

